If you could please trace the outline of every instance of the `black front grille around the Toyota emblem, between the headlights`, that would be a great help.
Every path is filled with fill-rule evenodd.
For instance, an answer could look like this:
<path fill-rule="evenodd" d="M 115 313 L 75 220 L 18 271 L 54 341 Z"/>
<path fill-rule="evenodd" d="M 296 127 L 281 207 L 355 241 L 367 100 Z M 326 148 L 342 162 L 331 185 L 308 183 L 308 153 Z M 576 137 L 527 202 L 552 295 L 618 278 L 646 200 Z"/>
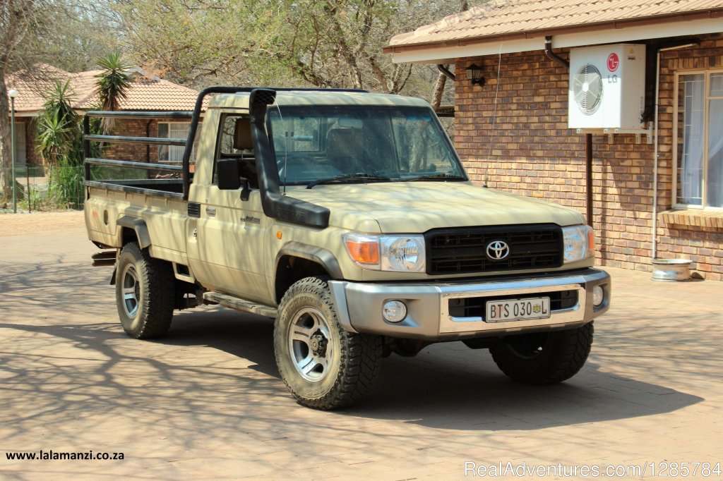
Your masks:
<path fill-rule="evenodd" d="M 427 274 L 470 274 L 523 269 L 550 269 L 562 265 L 562 229 L 555 224 L 501 225 L 429 230 Z M 502 241 L 510 254 L 492 260 L 489 243 Z"/>

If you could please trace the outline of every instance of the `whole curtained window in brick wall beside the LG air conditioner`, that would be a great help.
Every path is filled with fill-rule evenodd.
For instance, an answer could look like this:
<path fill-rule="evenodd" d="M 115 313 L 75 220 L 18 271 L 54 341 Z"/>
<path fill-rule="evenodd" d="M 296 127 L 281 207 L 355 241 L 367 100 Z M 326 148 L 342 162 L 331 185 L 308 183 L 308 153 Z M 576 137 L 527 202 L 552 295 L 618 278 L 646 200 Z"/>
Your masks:
<path fill-rule="evenodd" d="M 675 178 L 679 207 L 723 207 L 723 71 L 676 75 Z"/>

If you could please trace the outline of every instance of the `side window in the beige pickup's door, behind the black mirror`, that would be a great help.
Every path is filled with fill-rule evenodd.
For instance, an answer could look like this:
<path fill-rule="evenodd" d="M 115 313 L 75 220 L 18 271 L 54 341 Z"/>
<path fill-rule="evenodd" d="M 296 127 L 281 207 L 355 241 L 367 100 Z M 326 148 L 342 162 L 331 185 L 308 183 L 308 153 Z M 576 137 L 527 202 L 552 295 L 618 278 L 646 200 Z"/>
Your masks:
<path fill-rule="evenodd" d="M 241 175 L 249 180 L 252 188 L 258 188 L 256 160 L 251 141 L 251 122 L 248 116 L 226 114 L 221 117 L 213 162 L 214 184 L 218 184 L 216 162 L 222 159 L 234 159 L 239 162 Z"/>

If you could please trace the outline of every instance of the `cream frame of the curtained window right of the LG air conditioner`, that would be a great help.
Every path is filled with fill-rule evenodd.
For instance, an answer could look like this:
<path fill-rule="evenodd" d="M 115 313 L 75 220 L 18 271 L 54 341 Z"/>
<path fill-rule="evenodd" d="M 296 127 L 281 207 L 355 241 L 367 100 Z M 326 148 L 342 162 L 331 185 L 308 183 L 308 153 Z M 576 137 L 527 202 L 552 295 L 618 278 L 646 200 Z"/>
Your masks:
<path fill-rule="evenodd" d="M 680 77 L 682 75 L 696 75 L 702 74 L 705 80 L 703 85 L 703 186 L 701 188 L 701 205 L 697 204 L 684 204 L 678 202 L 678 168 L 680 159 L 678 159 L 678 147 L 680 145 L 678 134 L 678 118 L 680 116 Z M 722 95 L 711 95 L 711 76 L 713 74 L 723 74 L 723 69 L 696 69 L 696 70 L 681 70 L 675 72 L 675 83 L 673 84 L 673 117 L 672 117 L 672 205 L 675 209 L 698 209 L 698 210 L 710 210 L 710 211 L 721 211 L 723 207 L 710 207 L 707 206 L 708 201 L 708 162 L 709 162 L 709 134 L 710 134 L 710 102 L 711 100 L 723 100 Z"/>

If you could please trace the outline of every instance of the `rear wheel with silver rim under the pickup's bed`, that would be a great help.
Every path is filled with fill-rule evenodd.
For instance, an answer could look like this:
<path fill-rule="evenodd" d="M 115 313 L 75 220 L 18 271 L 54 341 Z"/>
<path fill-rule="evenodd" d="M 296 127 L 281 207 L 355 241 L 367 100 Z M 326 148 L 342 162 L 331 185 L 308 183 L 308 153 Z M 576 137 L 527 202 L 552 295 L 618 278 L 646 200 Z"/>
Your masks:
<path fill-rule="evenodd" d="M 170 263 L 127 243 L 116 268 L 116 307 L 123 330 L 135 339 L 166 334 L 174 316 L 175 285 Z"/>

